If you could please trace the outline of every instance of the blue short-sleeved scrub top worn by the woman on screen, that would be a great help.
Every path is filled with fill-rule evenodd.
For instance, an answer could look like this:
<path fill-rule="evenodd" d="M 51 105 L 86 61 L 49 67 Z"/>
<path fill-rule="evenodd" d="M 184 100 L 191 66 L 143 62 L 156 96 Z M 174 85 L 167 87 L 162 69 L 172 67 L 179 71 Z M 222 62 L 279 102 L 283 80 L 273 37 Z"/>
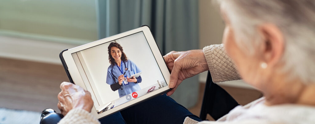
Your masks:
<path fill-rule="evenodd" d="M 126 63 L 126 65 L 125 65 L 125 63 Z M 108 67 L 108 69 L 107 69 L 107 78 L 106 78 L 106 83 L 107 84 L 112 85 L 112 84 L 118 83 L 117 79 L 118 79 L 118 77 L 120 75 L 122 75 L 122 73 L 120 72 L 121 71 L 121 67 L 123 67 L 123 73 L 126 71 L 125 68 L 126 67 L 128 68 L 127 72 L 125 73 L 125 76 L 127 76 L 127 77 L 141 72 L 141 70 L 137 67 L 137 65 L 135 65 L 135 63 L 132 62 L 131 60 L 128 59 L 125 63 L 122 62 L 120 64 L 119 69 L 117 67 L 117 64 L 110 65 Z M 116 76 L 117 79 L 115 77 L 113 77 L 112 74 L 114 76 Z M 133 93 L 133 92 L 138 91 L 138 90 L 141 89 L 139 84 L 138 83 L 134 83 L 134 82 L 129 82 L 128 85 L 122 84 L 122 87 L 123 87 L 123 90 L 121 90 L 120 88 L 118 89 L 119 97 L 126 96 L 127 94 Z"/>

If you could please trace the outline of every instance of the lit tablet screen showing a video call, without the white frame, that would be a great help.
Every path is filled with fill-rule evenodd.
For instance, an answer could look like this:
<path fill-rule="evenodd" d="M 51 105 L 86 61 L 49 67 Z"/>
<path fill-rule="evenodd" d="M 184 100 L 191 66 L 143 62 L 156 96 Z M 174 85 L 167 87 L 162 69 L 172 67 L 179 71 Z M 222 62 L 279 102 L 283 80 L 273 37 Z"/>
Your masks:
<path fill-rule="evenodd" d="M 142 31 L 72 57 L 98 114 L 167 86 Z M 140 72 L 138 78 L 129 78 Z"/>

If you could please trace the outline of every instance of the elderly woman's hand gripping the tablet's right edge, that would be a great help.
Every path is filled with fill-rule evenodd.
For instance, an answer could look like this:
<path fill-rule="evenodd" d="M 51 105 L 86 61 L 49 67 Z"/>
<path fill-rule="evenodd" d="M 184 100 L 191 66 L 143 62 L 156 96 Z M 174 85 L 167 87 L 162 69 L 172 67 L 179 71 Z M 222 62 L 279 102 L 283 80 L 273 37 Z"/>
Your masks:
<path fill-rule="evenodd" d="M 185 80 L 201 72 L 209 70 L 203 50 L 189 50 L 176 52 L 172 51 L 163 56 L 167 67 L 171 70 L 169 88 L 167 96 L 174 93 L 178 85 Z"/>

